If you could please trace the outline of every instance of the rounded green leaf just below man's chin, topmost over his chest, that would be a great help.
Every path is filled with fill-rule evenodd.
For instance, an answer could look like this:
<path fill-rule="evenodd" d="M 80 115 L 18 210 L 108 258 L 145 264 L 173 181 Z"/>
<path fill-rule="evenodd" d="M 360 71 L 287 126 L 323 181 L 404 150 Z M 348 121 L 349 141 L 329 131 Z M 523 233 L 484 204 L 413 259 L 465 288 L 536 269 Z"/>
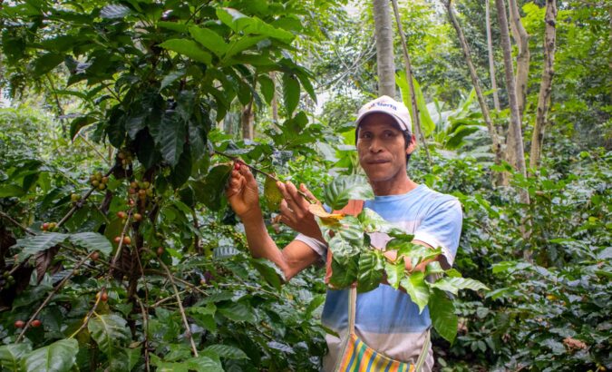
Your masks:
<path fill-rule="evenodd" d="M 332 210 L 341 210 L 349 200 L 368 200 L 374 198 L 372 187 L 363 176 L 339 176 L 324 190 L 325 204 Z"/>

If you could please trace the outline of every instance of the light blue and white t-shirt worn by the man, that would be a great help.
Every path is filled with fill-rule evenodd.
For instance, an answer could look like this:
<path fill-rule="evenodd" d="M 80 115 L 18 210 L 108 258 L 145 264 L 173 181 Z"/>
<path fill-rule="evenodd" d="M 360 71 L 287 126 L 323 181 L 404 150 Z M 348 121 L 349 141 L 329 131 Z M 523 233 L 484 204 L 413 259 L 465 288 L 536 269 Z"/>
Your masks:
<path fill-rule="evenodd" d="M 452 266 L 461 235 L 461 204 L 451 195 L 432 191 L 419 185 L 401 195 L 376 196 L 365 201 L 364 208 L 374 210 L 384 220 L 392 222 L 409 234 L 414 240 L 421 240 L 433 248 L 442 248 L 442 267 Z M 390 238 L 383 233 L 370 234 L 372 245 L 383 248 Z M 323 259 L 326 257 L 325 244 L 298 235 L 296 240 L 304 241 L 316 250 Z M 327 290 L 325 307 L 321 317 L 327 328 L 343 334 L 348 328 L 348 289 Z M 387 357 L 415 362 L 432 320 L 429 309 L 419 314 L 418 306 L 410 296 L 400 290 L 381 284 L 377 289 L 357 296 L 355 331 L 364 343 Z M 325 365 L 333 365 L 339 350 L 338 338 L 328 335 L 329 357 Z M 423 370 L 430 370 L 433 357 L 430 349 Z"/>

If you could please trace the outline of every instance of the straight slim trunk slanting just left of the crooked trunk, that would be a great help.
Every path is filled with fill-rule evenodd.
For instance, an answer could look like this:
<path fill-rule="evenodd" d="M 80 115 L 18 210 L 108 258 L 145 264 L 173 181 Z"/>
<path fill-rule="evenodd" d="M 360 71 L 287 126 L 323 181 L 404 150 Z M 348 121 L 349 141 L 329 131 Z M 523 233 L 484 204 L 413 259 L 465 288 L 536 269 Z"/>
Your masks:
<path fill-rule="evenodd" d="M 500 23 L 501 34 L 501 49 L 503 51 L 504 76 L 506 87 L 508 89 L 508 98 L 510 101 L 510 129 L 514 138 L 518 141 L 513 143 L 512 149 L 507 149 L 514 153 L 515 159 L 510 164 L 521 174 L 526 175 L 525 170 L 525 154 L 523 152 L 522 130 L 520 128 L 520 113 L 519 103 L 517 101 L 516 85 L 514 83 L 514 68 L 512 66 L 512 52 L 510 50 L 510 33 L 508 31 L 508 19 L 506 18 L 506 7 L 503 0 L 495 0 L 497 7 L 497 17 Z M 527 194 L 529 201 L 529 194 Z"/>

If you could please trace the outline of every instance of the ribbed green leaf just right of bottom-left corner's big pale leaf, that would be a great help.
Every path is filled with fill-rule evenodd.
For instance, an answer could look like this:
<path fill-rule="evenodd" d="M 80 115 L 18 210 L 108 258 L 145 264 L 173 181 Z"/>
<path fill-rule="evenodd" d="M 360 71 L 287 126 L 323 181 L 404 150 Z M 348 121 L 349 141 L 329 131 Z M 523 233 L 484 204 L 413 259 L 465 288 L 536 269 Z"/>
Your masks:
<path fill-rule="evenodd" d="M 113 351 L 121 349 L 123 344 L 131 338 L 127 322 L 115 314 L 104 314 L 91 318 L 87 329 L 107 357 L 112 357 Z"/>

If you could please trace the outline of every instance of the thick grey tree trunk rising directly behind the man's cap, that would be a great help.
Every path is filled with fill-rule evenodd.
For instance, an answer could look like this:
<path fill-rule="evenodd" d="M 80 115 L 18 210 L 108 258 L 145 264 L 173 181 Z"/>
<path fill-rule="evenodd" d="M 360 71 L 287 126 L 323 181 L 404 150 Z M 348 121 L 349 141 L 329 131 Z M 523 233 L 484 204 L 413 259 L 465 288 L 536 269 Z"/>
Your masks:
<path fill-rule="evenodd" d="M 378 65 L 378 93 L 395 98 L 395 64 L 393 62 L 393 30 L 389 0 L 374 0 L 374 33 L 376 64 Z"/>

